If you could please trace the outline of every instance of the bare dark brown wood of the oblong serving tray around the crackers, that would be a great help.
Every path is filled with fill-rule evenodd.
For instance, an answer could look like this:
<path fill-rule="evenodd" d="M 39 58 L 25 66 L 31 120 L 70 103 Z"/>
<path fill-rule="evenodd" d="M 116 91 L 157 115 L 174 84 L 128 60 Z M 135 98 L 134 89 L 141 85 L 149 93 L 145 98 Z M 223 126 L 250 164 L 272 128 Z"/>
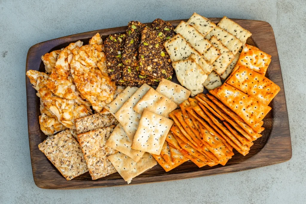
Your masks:
<path fill-rule="evenodd" d="M 186 20 L 187 19 L 184 21 Z M 210 20 L 218 23 L 220 18 L 210 18 Z M 272 107 L 272 110 L 263 120 L 263 127 L 265 128 L 265 130 L 262 132 L 263 136 L 254 142 L 249 154 L 246 156 L 242 156 L 235 150 L 235 155 L 227 162 L 225 166 L 219 164 L 213 167 L 204 166 L 202 168 L 198 168 L 191 161 L 187 161 L 179 167 L 169 172 L 165 172 L 161 166 L 156 165 L 149 171 L 133 178 L 130 185 L 243 171 L 281 163 L 288 161 L 291 158 L 292 149 L 289 120 L 282 71 L 278 59 L 273 29 L 269 23 L 264 21 L 242 19 L 233 20 L 240 24 L 243 28 L 246 28 L 252 32 L 252 36 L 248 39 L 247 43 L 257 46 L 260 50 L 263 50 L 272 56 L 272 61 L 269 65 L 266 76 L 281 88 L 281 91 L 269 105 Z M 169 22 L 175 27 L 180 21 L 181 20 L 171 20 Z M 81 40 L 84 42 L 84 44 L 87 44 L 89 39 L 97 32 L 99 32 L 103 39 L 105 39 L 105 37 L 109 34 L 124 33 L 126 28 L 127 27 L 124 26 L 102 29 L 38 43 L 32 46 L 28 51 L 26 71 L 29 69 L 45 71 L 40 57 L 47 52 L 59 50 L 69 45 L 69 43 L 76 42 L 77 40 Z M 177 82 L 176 77 L 174 77 L 173 81 Z M 47 136 L 40 130 L 38 121 L 38 116 L 40 115 L 39 98 L 36 96 L 36 91 L 34 88 L 32 88 L 32 85 L 27 77 L 26 88 L 28 106 L 28 133 L 32 171 L 35 184 L 38 187 L 47 189 L 79 189 L 120 186 L 127 184 L 118 173 L 111 174 L 98 180 L 91 180 L 91 176 L 87 172 L 74 178 L 73 180 L 67 181 L 51 164 L 47 157 L 38 149 L 38 144 L 43 142 Z"/>

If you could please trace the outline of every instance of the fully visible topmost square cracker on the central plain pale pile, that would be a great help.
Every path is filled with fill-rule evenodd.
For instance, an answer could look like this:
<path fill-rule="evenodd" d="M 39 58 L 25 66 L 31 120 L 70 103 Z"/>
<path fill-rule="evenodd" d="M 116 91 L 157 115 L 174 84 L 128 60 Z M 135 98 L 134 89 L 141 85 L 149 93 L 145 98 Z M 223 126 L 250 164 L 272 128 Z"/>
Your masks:
<path fill-rule="evenodd" d="M 144 110 L 135 133 L 132 149 L 160 154 L 173 121 Z"/>

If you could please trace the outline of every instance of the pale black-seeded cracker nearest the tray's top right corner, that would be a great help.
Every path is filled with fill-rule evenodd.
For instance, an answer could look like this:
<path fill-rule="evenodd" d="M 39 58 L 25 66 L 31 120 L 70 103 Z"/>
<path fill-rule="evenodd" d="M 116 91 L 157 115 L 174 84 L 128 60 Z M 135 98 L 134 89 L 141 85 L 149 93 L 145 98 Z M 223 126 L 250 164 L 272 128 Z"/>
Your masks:
<path fill-rule="evenodd" d="M 226 16 L 224 16 L 219 21 L 217 26 L 219 26 L 220 28 L 226 30 L 230 34 L 233 34 L 238 39 L 240 39 L 241 42 L 245 42 L 252 35 L 251 32 L 249 32 L 248 30 L 242 28 L 239 24 L 237 24 L 235 21 L 229 19 Z"/>

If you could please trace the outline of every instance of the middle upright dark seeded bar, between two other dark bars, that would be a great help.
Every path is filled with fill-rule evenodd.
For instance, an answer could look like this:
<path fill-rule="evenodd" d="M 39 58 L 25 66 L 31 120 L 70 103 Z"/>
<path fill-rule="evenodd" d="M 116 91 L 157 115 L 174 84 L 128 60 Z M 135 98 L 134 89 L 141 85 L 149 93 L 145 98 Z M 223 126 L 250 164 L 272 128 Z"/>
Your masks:
<path fill-rule="evenodd" d="M 138 21 L 130 21 L 125 32 L 126 39 L 122 52 L 122 62 L 128 66 L 138 65 L 138 49 L 140 35 L 145 25 Z"/>

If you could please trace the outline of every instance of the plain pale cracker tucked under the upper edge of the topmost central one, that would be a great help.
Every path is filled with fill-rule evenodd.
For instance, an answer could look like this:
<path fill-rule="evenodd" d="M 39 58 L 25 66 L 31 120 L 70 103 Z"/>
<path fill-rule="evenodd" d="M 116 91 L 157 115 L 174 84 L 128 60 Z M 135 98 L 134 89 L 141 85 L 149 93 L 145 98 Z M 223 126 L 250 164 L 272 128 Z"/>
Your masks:
<path fill-rule="evenodd" d="M 142 114 L 146 109 L 152 113 L 168 117 L 168 114 L 176 108 L 177 105 L 173 101 L 150 88 L 133 109 L 139 114 Z"/>

